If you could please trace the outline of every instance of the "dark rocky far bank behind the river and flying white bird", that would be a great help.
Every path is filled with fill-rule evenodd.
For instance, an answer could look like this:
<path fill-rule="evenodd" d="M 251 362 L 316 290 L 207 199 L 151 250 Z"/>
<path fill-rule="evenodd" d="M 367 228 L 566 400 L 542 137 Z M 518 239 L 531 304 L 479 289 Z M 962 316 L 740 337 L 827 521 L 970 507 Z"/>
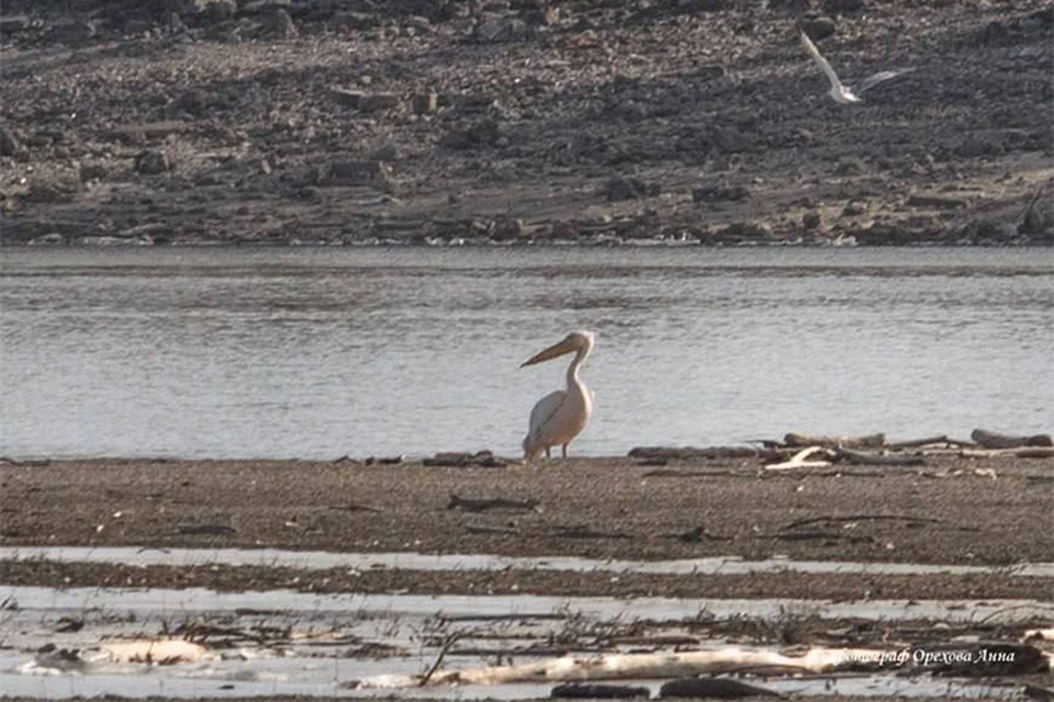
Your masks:
<path fill-rule="evenodd" d="M 351 5 L 4 3 L 0 242 L 1052 241 L 1049 1 Z"/>

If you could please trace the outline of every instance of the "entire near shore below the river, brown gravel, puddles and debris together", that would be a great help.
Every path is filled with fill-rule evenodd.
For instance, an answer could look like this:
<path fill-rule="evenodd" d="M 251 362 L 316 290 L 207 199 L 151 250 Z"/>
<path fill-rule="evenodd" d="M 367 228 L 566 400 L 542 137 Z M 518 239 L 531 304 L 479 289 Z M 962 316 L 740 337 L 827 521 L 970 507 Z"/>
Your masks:
<path fill-rule="evenodd" d="M 952 650 L 977 665 L 710 672 L 798 699 L 1019 698 L 1052 684 L 1050 461 L 7 460 L 0 684 L 522 700 L 561 679 L 419 681 L 568 656 Z M 670 679 L 625 678 L 651 697 Z"/>

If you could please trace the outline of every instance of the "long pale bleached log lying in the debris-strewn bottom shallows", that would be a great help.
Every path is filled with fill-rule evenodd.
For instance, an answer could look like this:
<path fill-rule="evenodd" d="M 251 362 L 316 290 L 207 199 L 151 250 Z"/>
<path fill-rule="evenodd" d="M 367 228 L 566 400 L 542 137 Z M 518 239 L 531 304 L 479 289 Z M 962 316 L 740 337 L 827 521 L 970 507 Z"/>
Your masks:
<path fill-rule="evenodd" d="M 428 684 L 681 678 L 744 668 L 826 673 L 860 665 L 876 665 L 882 660 L 896 660 L 897 655 L 895 649 L 873 648 L 812 648 L 801 656 L 784 656 L 774 650 L 721 648 L 680 653 L 606 654 L 595 657 L 564 656 L 519 666 L 437 671 L 428 679 Z M 375 676 L 360 680 L 358 687 L 412 688 L 418 687 L 421 680 L 421 676 Z"/>

